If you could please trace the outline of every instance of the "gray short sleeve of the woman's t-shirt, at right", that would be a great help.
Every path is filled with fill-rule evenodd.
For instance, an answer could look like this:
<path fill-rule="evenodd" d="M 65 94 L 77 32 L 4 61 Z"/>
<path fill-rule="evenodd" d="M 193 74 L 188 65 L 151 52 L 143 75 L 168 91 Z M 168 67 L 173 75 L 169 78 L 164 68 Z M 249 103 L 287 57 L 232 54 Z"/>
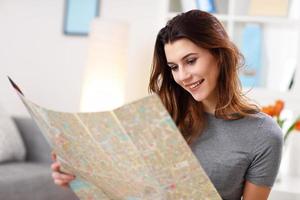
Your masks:
<path fill-rule="evenodd" d="M 262 120 L 245 178 L 255 185 L 272 187 L 280 166 L 283 134 L 271 117 L 265 116 Z"/>

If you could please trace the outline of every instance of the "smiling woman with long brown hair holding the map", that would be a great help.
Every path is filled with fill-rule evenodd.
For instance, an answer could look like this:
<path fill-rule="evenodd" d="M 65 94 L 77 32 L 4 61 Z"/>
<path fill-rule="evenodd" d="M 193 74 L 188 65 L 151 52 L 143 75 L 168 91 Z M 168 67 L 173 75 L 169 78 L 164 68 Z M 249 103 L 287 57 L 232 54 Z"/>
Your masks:
<path fill-rule="evenodd" d="M 156 92 L 223 199 L 265 200 L 281 159 L 277 124 L 241 92 L 242 56 L 221 23 L 192 10 L 156 38 L 149 89 Z M 56 184 L 74 178 L 52 164 Z"/>

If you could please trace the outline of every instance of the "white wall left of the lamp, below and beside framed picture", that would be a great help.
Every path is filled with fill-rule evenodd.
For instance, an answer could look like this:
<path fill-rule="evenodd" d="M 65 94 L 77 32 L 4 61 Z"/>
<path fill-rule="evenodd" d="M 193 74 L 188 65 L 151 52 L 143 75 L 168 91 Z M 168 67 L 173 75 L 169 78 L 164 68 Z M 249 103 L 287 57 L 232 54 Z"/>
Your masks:
<path fill-rule="evenodd" d="M 0 106 L 28 115 L 6 75 L 40 105 L 79 109 L 87 37 L 63 34 L 64 0 L 0 1 Z"/>

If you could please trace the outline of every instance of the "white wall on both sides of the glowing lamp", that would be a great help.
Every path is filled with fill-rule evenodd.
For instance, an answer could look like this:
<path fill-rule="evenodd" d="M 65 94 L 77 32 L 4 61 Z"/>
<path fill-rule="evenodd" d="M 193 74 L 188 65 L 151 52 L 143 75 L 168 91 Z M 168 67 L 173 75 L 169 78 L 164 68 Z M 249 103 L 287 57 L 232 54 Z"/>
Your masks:
<path fill-rule="evenodd" d="M 6 75 L 39 105 L 79 111 L 88 37 L 63 34 L 65 0 L 0 1 L 0 106 L 28 115 Z M 154 40 L 167 0 L 100 0 L 100 18 L 130 25 L 126 101 L 147 94 Z"/>

